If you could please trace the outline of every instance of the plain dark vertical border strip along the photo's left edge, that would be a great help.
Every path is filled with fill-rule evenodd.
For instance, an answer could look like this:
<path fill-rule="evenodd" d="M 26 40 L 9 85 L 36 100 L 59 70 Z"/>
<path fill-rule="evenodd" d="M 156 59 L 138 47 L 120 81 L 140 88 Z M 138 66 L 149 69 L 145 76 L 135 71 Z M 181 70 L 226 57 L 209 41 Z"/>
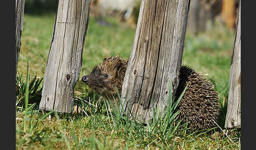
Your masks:
<path fill-rule="evenodd" d="M 15 149 L 15 1 L 2 1 L 1 23 L 1 79 L 2 79 L 2 107 L 1 130 L 4 149 Z"/>

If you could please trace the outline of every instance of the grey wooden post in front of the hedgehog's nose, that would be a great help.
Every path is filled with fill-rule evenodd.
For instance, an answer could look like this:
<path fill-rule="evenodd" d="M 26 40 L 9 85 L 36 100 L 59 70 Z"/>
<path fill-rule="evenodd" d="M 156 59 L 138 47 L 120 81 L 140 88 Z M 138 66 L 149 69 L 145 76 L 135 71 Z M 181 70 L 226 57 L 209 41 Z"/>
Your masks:
<path fill-rule="evenodd" d="M 80 76 L 91 0 L 59 0 L 45 71 L 41 110 L 71 113 Z"/>

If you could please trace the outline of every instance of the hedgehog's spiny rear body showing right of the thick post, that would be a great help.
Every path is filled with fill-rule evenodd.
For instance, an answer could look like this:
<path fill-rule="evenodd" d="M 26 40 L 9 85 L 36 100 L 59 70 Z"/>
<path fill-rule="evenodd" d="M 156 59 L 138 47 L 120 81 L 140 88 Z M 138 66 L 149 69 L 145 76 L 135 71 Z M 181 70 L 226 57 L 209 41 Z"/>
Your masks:
<path fill-rule="evenodd" d="M 205 129 L 216 126 L 219 116 L 219 97 L 214 85 L 189 66 L 182 66 L 176 99 L 186 88 L 177 110 L 179 119 L 190 122 L 191 128 Z"/>

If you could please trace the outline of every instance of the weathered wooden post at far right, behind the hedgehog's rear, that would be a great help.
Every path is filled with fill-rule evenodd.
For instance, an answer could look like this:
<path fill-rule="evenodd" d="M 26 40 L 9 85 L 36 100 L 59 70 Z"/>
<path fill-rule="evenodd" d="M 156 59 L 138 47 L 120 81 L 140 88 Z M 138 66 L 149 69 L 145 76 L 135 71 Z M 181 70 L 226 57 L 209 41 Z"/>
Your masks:
<path fill-rule="evenodd" d="M 225 127 L 241 127 L 241 1 L 229 76 L 229 101 Z"/>

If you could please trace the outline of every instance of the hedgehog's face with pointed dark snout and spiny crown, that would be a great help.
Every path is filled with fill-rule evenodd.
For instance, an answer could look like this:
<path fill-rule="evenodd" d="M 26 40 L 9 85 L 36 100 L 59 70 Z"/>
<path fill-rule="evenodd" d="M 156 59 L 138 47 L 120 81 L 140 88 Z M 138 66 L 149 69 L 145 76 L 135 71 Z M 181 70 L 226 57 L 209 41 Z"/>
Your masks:
<path fill-rule="evenodd" d="M 116 94 L 116 86 L 122 83 L 119 70 L 122 60 L 118 56 L 104 58 L 103 62 L 95 66 L 90 74 L 82 77 L 82 81 L 97 93 L 112 98 Z"/>

